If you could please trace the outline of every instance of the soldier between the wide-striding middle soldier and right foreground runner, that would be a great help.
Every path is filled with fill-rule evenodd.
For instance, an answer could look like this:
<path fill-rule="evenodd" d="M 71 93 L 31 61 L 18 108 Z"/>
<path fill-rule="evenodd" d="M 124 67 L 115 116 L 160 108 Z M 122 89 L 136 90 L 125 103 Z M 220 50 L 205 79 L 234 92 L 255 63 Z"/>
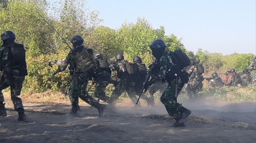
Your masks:
<path fill-rule="evenodd" d="M 147 76 L 147 67 L 144 63 L 142 63 L 142 59 L 139 56 L 135 56 L 132 59 L 133 63 L 137 65 L 137 67 L 139 68 L 139 73 L 136 74 L 136 79 L 135 81 L 135 92 L 136 95 L 139 96 L 139 94 L 141 94 L 142 88 L 143 88 L 143 82 L 145 81 L 145 78 Z M 141 98 L 147 101 L 147 107 L 151 106 L 154 107 L 155 103 L 154 103 L 154 96 L 148 98 L 147 96 L 145 96 L 145 94 L 141 94 Z"/>

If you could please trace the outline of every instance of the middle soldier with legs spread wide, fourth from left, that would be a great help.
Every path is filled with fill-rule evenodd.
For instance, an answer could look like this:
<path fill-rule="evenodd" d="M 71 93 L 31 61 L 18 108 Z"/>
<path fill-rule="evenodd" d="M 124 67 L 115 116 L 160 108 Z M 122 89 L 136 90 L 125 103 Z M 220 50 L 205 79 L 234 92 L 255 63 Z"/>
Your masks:
<path fill-rule="evenodd" d="M 135 81 L 136 75 L 134 73 L 131 73 L 131 68 L 134 68 L 134 66 L 131 66 L 126 60 L 124 60 L 123 54 L 117 54 L 115 55 L 116 64 L 112 66 L 113 71 L 117 71 L 117 76 L 120 79 L 118 85 L 114 89 L 111 98 L 116 101 L 124 91 L 128 93 L 129 98 L 132 100 L 135 107 L 140 107 L 140 103 L 137 105 L 137 97 L 136 97 L 136 91 L 135 91 Z M 128 70 L 129 69 L 129 70 Z M 135 68 L 136 69 L 136 68 Z M 135 72 L 135 71 L 134 71 Z M 115 105 L 115 102 L 112 102 L 112 105 Z"/>

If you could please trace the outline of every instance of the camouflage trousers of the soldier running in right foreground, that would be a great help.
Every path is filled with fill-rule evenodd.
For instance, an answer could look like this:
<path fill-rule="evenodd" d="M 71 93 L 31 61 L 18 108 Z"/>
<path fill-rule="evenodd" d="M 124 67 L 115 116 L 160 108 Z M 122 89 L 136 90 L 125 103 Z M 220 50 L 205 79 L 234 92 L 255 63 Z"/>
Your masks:
<path fill-rule="evenodd" d="M 181 113 L 184 111 L 184 107 L 181 104 L 177 103 L 177 98 L 175 97 L 175 81 L 172 80 L 171 83 L 167 86 L 164 93 L 162 94 L 160 101 L 166 107 L 168 114 L 174 119 L 179 119 Z M 178 94 L 183 88 L 184 84 L 181 83 L 181 79 L 178 79 Z"/>

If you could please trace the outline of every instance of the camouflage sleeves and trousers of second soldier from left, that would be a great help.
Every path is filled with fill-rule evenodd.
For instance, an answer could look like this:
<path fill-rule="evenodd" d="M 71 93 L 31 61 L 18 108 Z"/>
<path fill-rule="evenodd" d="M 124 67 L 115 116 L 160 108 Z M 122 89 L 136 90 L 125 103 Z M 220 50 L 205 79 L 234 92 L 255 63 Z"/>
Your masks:
<path fill-rule="evenodd" d="M 74 52 L 78 54 L 82 52 L 82 50 L 88 50 L 88 48 L 80 46 L 77 47 Z M 69 52 L 66 59 L 62 60 L 60 63 L 57 62 L 60 70 L 59 72 L 64 71 L 70 62 L 74 62 L 74 55 L 72 54 L 72 51 Z M 68 94 L 72 105 L 77 106 L 79 104 L 79 98 L 81 98 L 89 105 L 94 106 L 97 101 L 86 91 L 91 74 L 79 71 L 74 71 L 74 73 L 72 73 L 73 69 L 71 68 L 72 66 L 70 65 L 70 75 L 73 75 L 73 77 L 69 85 Z"/>

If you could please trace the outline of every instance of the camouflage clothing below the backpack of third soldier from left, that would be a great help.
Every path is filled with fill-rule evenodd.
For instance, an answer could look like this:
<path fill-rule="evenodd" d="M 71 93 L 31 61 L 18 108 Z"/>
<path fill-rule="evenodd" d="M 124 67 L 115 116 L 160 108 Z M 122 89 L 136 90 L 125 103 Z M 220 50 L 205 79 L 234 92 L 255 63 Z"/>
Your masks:
<path fill-rule="evenodd" d="M 111 99 L 109 96 L 106 96 L 106 93 L 105 93 L 105 88 L 110 83 L 110 73 L 103 71 L 103 72 L 100 72 L 97 76 L 99 77 L 98 78 L 99 80 L 96 82 L 96 89 L 94 91 L 94 96 L 96 98 L 99 98 L 102 101 L 111 103 L 113 99 Z"/>

